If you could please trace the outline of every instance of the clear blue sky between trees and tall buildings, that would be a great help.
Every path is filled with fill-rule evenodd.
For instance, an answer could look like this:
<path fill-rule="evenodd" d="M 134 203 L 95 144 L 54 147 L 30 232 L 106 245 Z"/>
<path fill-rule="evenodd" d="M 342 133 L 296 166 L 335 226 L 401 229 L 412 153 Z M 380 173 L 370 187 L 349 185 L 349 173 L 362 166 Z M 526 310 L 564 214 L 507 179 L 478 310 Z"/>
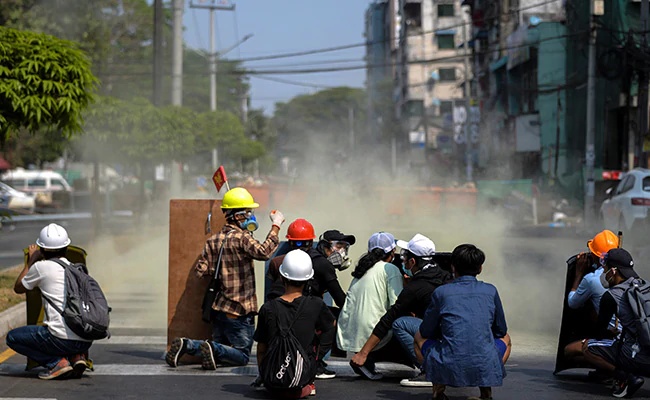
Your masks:
<path fill-rule="evenodd" d="M 208 50 L 210 12 L 190 8 L 190 3 L 211 4 L 212 0 L 185 0 L 184 40 L 186 45 Z M 225 50 L 247 34 L 253 37 L 226 55 L 250 58 L 363 43 L 364 16 L 369 0 L 215 0 L 235 4 L 235 11 L 215 11 L 215 47 Z M 363 64 L 363 46 L 301 57 L 249 61 L 249 69 L 306 69 Z M 206 71 L 207 73 L 207 71 Z M 310 85 L 362 87 L 364 69 L 315 74 L 271 75 L 271 78 Z M 251 105 L 273 112 L 274 104 L 292 97 L 315 93 L 319 88 L 278 83 L 251 76 Z M 208 90 L 208 88 L 206 88 Z"/>

